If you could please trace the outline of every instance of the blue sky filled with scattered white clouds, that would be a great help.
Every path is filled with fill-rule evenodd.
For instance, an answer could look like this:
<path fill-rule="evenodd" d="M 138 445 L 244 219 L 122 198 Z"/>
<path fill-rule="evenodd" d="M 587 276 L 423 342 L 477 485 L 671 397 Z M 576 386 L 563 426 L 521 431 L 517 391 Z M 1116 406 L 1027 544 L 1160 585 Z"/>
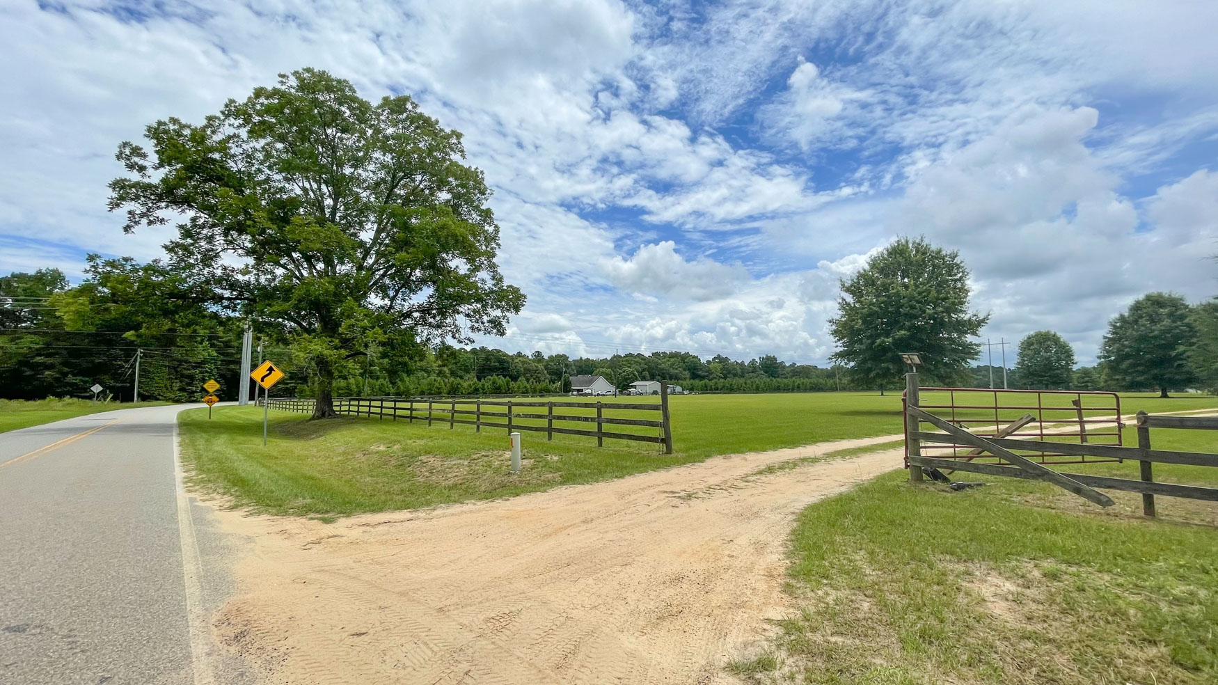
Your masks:
<path fill-rule="evenodd" d="M 529 295 L 504 349 L 822 363 L 898 235 L 1080 362 L 1136 296 L 1218 293 L 1214 2 L 250 5 L 0 7 L 0 272 L 157 256 L 105 211 L 117 144 L 313 66 L 465 134 Z"/>

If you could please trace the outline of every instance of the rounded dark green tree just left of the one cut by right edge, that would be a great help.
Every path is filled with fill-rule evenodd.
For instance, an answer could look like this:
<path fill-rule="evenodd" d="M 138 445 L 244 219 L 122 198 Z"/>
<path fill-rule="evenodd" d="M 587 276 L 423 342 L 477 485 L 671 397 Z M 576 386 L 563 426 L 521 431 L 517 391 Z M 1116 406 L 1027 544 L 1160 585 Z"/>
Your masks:
<path fill-rule="evenodd" d="M 1108 323 L 1100 360 L 1130 389 L 1157 388 L 1160 396 L 1195 379 L 1189 347 L 1196 340 L 1191 310 L 1184 297 L 1151 293 L 1135 300 Z"/>

